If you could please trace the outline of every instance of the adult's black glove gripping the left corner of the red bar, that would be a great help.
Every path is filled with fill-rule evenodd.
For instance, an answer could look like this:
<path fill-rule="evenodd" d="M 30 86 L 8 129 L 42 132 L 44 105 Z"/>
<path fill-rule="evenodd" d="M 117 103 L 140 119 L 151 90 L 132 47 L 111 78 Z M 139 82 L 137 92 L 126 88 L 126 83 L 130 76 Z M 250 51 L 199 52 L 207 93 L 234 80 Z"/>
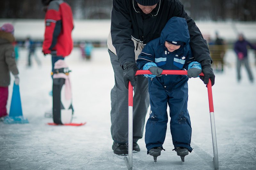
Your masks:
<path fill-rule="evenodd" d="M 128 89 L 129 81 L 131 81 L 132 86 L 136 85 L 137 77 L 135 77 L 136 71 L 139 70 L 136 63 L 126 62 L 124 67 L 124 85 Z"/>

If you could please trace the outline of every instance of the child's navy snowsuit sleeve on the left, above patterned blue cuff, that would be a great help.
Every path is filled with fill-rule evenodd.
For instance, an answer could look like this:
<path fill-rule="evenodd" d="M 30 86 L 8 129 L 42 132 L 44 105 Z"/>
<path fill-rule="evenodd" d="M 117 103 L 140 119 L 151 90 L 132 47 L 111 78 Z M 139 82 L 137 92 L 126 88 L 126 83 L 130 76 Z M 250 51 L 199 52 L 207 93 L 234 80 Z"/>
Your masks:
<path fill-rule="evenodd" d="M 146 63 L 155 63 L 155 52 L 152 43 L 148 43 L 141 51 L 136 61 L 139 70 L 143 70 Z"/>

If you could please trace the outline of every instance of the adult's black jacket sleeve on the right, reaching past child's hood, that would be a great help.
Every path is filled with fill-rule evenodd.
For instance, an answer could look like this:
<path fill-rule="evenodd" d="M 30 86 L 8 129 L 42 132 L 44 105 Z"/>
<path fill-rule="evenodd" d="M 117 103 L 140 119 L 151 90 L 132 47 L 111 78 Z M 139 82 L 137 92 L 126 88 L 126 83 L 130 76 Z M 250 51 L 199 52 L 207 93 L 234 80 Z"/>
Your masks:
<path fill-rule="evenodd" d="M 212 63 L 212 58 L 210 57 L 210 51 L 207 46 L 206 40 L 204 40 L 202 33 L 199 28 L 196 26 L 195 21 L 188 16 L 186 11 L 184 11 L 183 5 L 175 0 L 174 4 L 171 5 L 173 8 L 173 16 L 185 18 L 188 23 L 188 31 L 190 34 L 190 47 L 192 49 L 192 53 L 197 62 L 201 62 L 205 59 L 210 59 Z"/>

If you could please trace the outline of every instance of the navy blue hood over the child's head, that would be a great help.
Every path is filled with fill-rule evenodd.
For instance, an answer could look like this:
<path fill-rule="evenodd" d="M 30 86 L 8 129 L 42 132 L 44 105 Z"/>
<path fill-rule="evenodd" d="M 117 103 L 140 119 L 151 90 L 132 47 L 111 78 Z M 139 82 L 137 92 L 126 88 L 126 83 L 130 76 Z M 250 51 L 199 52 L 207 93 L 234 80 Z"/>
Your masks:
<path fill-rule="evenodd" d="M 160 45 L 164 45 L 165 41 L 182 41 L 189 44 L 190 36 L 188 32 L 188 24 L 185 18 L 172 17 L 164 26 L 160 36 Z"/>

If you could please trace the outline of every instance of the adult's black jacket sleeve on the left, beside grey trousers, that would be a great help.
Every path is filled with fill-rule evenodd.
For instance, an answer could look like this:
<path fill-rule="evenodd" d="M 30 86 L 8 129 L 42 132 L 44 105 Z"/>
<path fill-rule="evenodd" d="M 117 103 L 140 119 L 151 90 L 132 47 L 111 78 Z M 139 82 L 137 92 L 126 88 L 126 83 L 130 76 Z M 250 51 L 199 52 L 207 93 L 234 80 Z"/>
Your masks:
<path fill-rule="evenodd" d="M 134 43 L 131 35 L 132 22 L 128 9 L 124 7 L 121 0 L 114 0 L 111 15 L 111 37 L 121 66 L 127 61 L 135 63 Z"/>

